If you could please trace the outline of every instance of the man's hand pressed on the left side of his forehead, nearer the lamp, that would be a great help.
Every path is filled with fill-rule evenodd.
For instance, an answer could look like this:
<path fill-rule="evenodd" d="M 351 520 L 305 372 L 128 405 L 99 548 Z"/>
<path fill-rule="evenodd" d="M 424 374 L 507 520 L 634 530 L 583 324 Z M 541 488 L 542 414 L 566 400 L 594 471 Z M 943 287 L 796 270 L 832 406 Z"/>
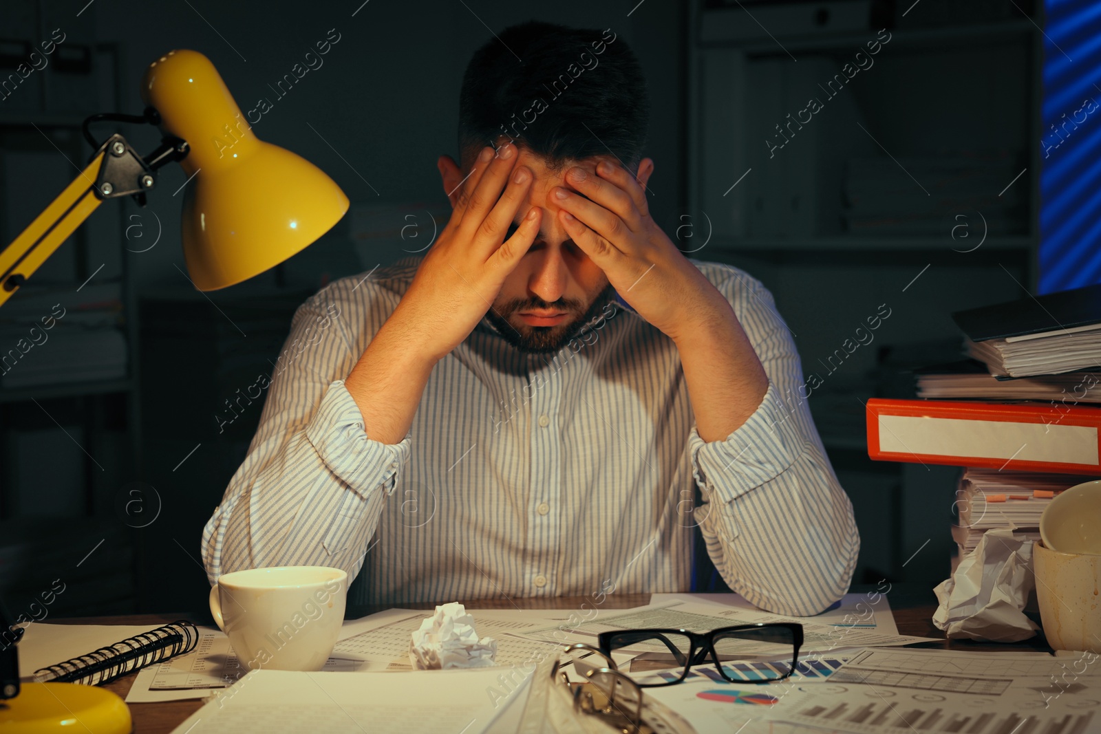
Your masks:
<path fill-rule="evenodd" d="M 433 362 L 473 330 L 539 232 L 542 210 L 532 207 L 502 244 L 534 178 L 526 166 L 513 171 L 517 158 L 513 143 L 495 154 L 490 146 L 482 149 L 450 220 L 391 316 Z"/>

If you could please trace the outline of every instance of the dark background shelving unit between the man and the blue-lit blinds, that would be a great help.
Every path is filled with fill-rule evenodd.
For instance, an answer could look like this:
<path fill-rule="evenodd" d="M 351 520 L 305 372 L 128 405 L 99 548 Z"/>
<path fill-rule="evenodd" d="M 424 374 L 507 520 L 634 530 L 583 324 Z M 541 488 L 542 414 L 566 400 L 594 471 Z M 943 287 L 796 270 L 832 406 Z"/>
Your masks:
<path fill-rule="evenodd" d="M 868 459 L 857 399 L 953 359 L 953 310 L 1035 293 L 1043 3 L 963 24 L 948 2 L 900 18 L 907 2 L 874 55 L 882 24 L 854 30 L 858 4 L 752 6 L 767 33 L 745 8 L 690 4 L 680 244 L 760 280 L 824 381 L 809 403 L 864 536 L 858 578 L 938 582 L 947 568 L 905 561 L 930 527 L 933 548 L 953 545 L 951 472 Z"/>

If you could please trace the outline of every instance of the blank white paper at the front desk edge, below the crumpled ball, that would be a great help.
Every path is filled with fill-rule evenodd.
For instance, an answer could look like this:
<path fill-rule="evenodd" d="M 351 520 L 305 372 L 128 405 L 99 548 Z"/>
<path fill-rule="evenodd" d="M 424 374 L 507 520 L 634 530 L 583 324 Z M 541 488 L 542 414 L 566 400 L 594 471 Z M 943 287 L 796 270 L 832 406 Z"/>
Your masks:
<path fill-rule="evenodd" d="M 253 670 L 174 732 L 478 734 L 506 710 L 494 708 L 486 694 L 498 673 L 494 668 L 360 676 Z"/>

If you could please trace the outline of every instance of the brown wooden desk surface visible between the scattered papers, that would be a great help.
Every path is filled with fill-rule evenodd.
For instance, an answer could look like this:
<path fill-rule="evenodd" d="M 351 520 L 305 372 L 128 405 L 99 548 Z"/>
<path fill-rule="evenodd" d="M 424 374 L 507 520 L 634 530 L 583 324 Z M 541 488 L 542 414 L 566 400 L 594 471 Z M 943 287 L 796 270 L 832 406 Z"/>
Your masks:
<path fill-rule="evenodd" d="M 874 591 L 874 588 L 869 587 L 866 589 L 860 585 L 853 584 L 851 590 L 853 593 L 865 593 L 869 591 Z M 933 613 L 937 609 L 936 598 L 928 587 L 922 588 L 907 588 L 903 585 L 896 585 L 887 594 L 887 600 L 891 603 L 891 610 L 894 613 L 895 624 L 898 625 L 900 634 L 904 635 L 915 635 L 918 637 L 934 637 L 937 642 L 922 643 L 918 645 L 913 645 L 916 648 L 940 648 L 940 649 L 955 649 L 955 650 L 998 650 L 998 651 L 1014 651 L 1014 650 L 1044 650 L 1050 651 L 1050 647 L 1044 642 L 1043 636 L 1037 635 L 1033 639 L 1025 640 L 1024 643 L 1017 644 L 979 644 L 968 640 L 949 640 L 945 639 L 942 632 L 933 626 Z M 471 610 L 478 609 L 578 609 L 582 602 L 589 601 L 585 596 L 557 596 L 557 598 L 536 598 L 536 599 L 490 599 L 481 601 L 470 601 L 465 602 L 466 606 Z M 640 606 L 642 604 L 650 603 L 650 594 L 612 594 L 604 601 L 604 609 L 629 609 L 632 606 Z M 403 607 L 408 609 L 434 609 L 433 604 L 403 604 Z M 357 618 L 359 616 L 371 614 L 373 612 L 380 612 L 382 610 L 390 609 L 390 606 L 379 606 L 377 609 L 362 609 L 356 610 L 355 616 L 349 616 L 349 618 Z M 151 627 L 159 624 L 165 624 L 178 618 L 192 618 L 196 623 L 209 624 L 209 620 L 203 620 L 195 615 L 187 614 L 133 614 L 126 616 L 100 616 L 100 617 L 70 617 L 70 618 L 59 618 L 51 620 L 51 622 L 57 624 L 149 624 Z M 130 692 L 130 687 L 133 686 L 134 678 L 138 673 L 130 673 L 113 683 L 105 686 L 105 688 L 115 691 L 122 698 L 126 698 L 127 693 Z M 134 723 L 134 734 L 160 734 L 162 732 L 171 732 L 181 722 L 187 719 L 192 713 L 197 711 L 203 706 L 204 699 L 193 699 L 188 701 L 168 701 L 164 703 L 131 703 L 130 714 L 133 717 Z"/>

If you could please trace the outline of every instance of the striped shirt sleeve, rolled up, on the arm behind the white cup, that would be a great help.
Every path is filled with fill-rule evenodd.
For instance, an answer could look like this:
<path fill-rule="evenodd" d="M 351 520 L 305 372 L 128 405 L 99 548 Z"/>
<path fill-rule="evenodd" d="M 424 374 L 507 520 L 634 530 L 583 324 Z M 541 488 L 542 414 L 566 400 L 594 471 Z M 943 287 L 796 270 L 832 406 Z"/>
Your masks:
<path fill-rule="evenodd" d="M 341 319 L 368 316 L 341 287 L 294 315 L 257 435 L 203 532 L 211 583 L 248 568 L 330 566 L 349 580 L 362 568 L 411 435 L 393 445 L 370 438 L 345 387 L 359 353 Z"/>

